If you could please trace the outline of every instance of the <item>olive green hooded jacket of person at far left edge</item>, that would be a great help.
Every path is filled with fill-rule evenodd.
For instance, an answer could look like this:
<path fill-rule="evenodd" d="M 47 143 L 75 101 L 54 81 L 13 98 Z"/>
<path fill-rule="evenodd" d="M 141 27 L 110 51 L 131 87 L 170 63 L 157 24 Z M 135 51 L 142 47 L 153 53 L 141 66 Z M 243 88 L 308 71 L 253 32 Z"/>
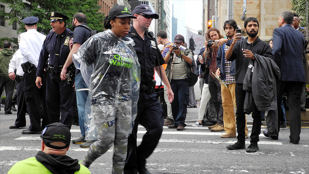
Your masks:
<path fill-rule="evenodd" d="M 9 64 L 10 60 L 13 58 L 14 51 L 5 48 L 0 51 L 0 76 L 6 79 L 12 80 L 9 77 Z"/>

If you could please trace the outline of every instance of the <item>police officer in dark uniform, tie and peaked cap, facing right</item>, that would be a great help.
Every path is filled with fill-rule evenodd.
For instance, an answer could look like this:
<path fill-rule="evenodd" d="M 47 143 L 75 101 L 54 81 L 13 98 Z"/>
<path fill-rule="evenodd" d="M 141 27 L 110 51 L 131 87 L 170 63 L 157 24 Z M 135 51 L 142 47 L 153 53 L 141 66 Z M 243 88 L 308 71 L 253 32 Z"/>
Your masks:
<path fill-rule="evenodd" d="M 73 64 L 68 69 L 68 80 L 61 80 L 60 72 L 66 58 L 70 53 L 69 40 L 73 35 L 66 28 L 66 20 L 69 18 L 58 12 L 52 12 L 50 16 L 50 25 L 53 32 L 49 33 L 43 43 L 40 53 L 38 69 L 36 72 L 36 86 L 42 87 L 41 77 L 44 73 L 44 67 L 47 64 L 46 79 L 46 104 L 49 113 L 49 122 L 59 122 L 61 114 L 61 123 L 71 128 L 74 110 L 74 73 Z"/>

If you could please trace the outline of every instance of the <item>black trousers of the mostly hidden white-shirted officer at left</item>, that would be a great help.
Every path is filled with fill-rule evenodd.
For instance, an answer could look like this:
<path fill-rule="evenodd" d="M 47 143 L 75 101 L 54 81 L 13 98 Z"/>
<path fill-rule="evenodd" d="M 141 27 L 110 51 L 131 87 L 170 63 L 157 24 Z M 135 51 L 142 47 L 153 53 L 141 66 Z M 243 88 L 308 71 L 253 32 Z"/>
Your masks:
<path fill-rule="evenodd" d="M 25 100 L 25 94 L 23 92 L 23 81 L 17 83 L 16 98 L 17 98 L 17 118 L 15 120 L 15 125 L 17 127 L 25 127 L 27 104 Z"/>

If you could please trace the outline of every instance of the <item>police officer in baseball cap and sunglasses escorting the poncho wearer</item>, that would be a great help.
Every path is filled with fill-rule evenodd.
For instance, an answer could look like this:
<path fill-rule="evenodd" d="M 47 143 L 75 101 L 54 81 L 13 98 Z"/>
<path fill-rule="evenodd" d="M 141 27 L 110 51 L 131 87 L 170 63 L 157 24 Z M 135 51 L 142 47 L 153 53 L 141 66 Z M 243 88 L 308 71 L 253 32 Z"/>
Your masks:
<path fill-rule="evenodd" d="M 161 68 L 162 81 L 167 87 L 168 102 L 173 101 L 174 94 L 162 66 L 165 61 L 160 50 L 157 50 L 156 39 L 146 32 L 152 19 L 158 19 L 159 15 L 153 13 L 150 7 L 145 4 L 135 7 L 132 15 L 137 19 L 133 19 L 133 26 L 131 26 L 127 37 L 131 37 L 135 43 L 134 49 L 141 65 L 141 84 L 138 114 L 132 134 L 128 138 L 128 153 L 124 173 L 137 174 L 139 172 L 140 174 L 147 174 L 149 172 L 145 167 L 146 158 L 155 150 L 162 134 L 164 122 L 162 107 L 154 91 L 154 69 L 160 76 L 159 67 Z M 157 55 L 159 60 L 157 60 Z M 136 138 L 139 122 L 146 128 L 147 133 L 143 136 L 142 143 L 137 147 Z"/>

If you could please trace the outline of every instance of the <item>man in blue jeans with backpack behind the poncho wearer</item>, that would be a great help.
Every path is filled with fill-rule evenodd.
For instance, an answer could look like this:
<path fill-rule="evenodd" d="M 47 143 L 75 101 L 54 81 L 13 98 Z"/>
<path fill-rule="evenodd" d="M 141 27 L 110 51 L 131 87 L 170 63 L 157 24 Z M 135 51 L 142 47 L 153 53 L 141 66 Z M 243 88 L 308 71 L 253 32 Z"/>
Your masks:
<path fill-rule="evenodd" d="M 78 48 L 83 45 L 85 41 L 91 36 L 90 30 L 87 28 L 81 27 L 80 25 L 87 26 L 87 16 L 83 13 L 75 13 L 72 21 L 72 28 L 74 29 L 73 34 L 73 46 L 72 50 L 69 53 L 66 63 L 63 65 L 62 71 L 60 73 L 61 80 L 65 80 L 67 74 L 67 68 L 73 63 L 72 55 L 76 54 Z M 80 27 L 77 27 L 80 26 Z M 80 144 L 80 147 L 88 148 L 94 141 L 85 140 L 85 105 L 88 97 L 88 91 L 78 91 L 78 89 L 87 89 L 87 85 L 83 79 L 82 73 L 79 69 L 76 69 L 75 72 L 75 92 L 76 92 L 76 101 L 78 108 L 78 121 L 81 137 L 78 139 L 72 140 L 73 144 Z"/>

